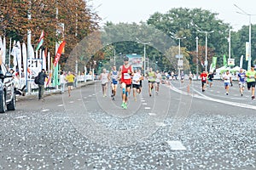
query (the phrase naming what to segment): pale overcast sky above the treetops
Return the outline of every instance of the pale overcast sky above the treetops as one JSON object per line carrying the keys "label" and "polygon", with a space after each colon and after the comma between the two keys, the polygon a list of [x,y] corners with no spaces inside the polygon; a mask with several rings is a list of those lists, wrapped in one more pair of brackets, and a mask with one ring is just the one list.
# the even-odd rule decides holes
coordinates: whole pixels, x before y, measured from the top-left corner
{"label": "pale overcast sky above the treetops", "polygon": [[140,22],[148,20],[154,12],[165,14],[171,8],[203,8],[212,13],[218,13],[218,19],[230,23],[238,30],[241,26],[249,25],[249,16],[237,14],[242,8],[252,15],[252,24],[256,24],[256,0],[90,0],[97,14],[102,17],[102,23],[112,21]]}

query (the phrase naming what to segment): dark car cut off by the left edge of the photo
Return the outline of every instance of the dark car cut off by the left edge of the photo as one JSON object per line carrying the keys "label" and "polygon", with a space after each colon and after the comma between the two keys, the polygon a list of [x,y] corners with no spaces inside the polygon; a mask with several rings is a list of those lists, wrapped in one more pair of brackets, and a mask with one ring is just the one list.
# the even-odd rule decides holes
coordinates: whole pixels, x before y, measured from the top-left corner
{"label": "dark car cut off by the left edge of the photo", "polygon": [[15,111],[15,80],[5,65],[0,65],[0,113]]}

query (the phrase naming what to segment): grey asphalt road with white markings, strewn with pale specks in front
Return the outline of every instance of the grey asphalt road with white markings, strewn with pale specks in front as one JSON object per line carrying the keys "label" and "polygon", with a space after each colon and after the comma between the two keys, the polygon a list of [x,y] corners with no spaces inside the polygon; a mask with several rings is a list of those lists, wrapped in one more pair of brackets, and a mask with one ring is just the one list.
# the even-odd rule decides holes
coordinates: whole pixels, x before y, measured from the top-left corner
{"label": "grey asphalt road with white markings, strewn with pale specks in front", "polygon": [[[128,109],[96,82],[0,115],[0,169],[255,169],[256,101],[235,82],[171,82]],[[154,91],[153,91],[154,93]],[[132,93],[131,93],[132,94]]]}

